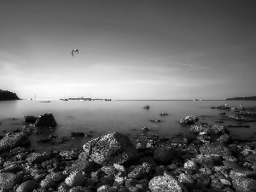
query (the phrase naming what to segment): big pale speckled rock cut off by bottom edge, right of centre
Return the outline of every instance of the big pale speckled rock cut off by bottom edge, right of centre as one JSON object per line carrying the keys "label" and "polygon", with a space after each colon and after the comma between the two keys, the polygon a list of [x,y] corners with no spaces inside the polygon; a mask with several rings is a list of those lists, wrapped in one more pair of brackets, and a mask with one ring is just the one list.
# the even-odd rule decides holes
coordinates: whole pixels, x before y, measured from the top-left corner
{"label": "big pale speckled rock cut off by bottom edge, right of centre", "polygon": [[148,188],[152,192],[186,192],[188,191],[182,183],[179,183],[174,177],[165,174],[164,176],[153,177]]}

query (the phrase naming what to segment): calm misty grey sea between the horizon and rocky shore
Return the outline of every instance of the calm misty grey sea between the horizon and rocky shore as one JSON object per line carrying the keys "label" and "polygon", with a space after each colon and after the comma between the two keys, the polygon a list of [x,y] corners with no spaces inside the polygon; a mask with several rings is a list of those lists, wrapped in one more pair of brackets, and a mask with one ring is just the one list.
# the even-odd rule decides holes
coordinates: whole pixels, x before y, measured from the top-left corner
{"label": "calm misty grey sea between the horizon and rocky shore", "polygon": [[[179,132],[189,133],[189,125],[180,125],[179,120],[188,115],[199,117],[199,122],[207,122],[216,125],[236,124],[232,119],[224,120],[223,124],[215,123],[221,119],[218,113],[225,112],[211,107],[227,104],[231,108],[253,107],[255,101],[59,101],[50,102],[40,100],[21,100],[11,102],[0,102],[0,135],[23,128],[22,118],[25,115],[39,116],[44,113],[53,113],[57,126],[54,130],[41,130],[42,134],[32,135],[32,148],[43,150],[45,148],[64,149],[80,147],[91,137],[72,138],[69,134],[73,131],[83,131],[92,137],[99,137],[113,131],[127,134],[134,139],[137,133],[146,126],[153,133],[162,137],[171,137]],[[143,109],[144,105],[150,108]],[[160,113],[169,115],[160,116]],[[227,113],[234,113],[230,111]],[[255,119],[255,117],[249,117]],[[149,120],[160,119],[160,123]],[[229,130],[241,137],[253,136],[256,131],[256,123],[243,123],[250,128],[229,128]],[[6,132],[3,132],[6,131]],[[147,133],[147,134],[148,134]],[[64,136],[70,139],[67,143],[38,144],[39,137]]]}

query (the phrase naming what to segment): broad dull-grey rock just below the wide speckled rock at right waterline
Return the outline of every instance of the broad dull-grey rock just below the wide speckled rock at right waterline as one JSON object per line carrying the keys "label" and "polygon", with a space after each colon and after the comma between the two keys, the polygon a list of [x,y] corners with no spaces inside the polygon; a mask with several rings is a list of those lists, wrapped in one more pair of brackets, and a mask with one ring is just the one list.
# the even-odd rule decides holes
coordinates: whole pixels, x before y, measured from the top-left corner
{"label": "broad dull-grey rock just below the wide speckled rock at right waterline", "polygon": [[224,143],[207,143],[199,148],[201,154],[217,154],[219,156],[230,156],[231,152]]}

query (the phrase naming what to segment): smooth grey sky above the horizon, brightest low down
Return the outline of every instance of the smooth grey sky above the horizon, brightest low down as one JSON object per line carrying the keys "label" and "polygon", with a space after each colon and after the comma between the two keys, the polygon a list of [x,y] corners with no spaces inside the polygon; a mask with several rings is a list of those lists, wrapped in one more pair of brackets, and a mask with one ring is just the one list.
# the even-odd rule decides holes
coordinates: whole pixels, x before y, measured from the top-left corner
{"label": "smooth grey sky above the horizon, brightest low down", "polygon": [[22,99],[256,96],[255,10],[254,0],[4,0],[0,89]]}

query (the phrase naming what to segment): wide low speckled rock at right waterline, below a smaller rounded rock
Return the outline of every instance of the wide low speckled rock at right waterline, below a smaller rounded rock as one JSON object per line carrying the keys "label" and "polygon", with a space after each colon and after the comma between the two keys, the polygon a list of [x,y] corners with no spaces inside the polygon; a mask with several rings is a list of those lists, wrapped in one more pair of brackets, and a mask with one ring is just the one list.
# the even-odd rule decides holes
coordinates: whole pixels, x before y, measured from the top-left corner
{"label": "wide low speckled rock at right waterline, below a smaller rounded rock", "polygon": [[229,131],[224,128],[224,126],[208,123],[195,123],[194,125],[191,125],[190,132],[195,134],[200,132],[205,132],[206,134],[229,133]]}

